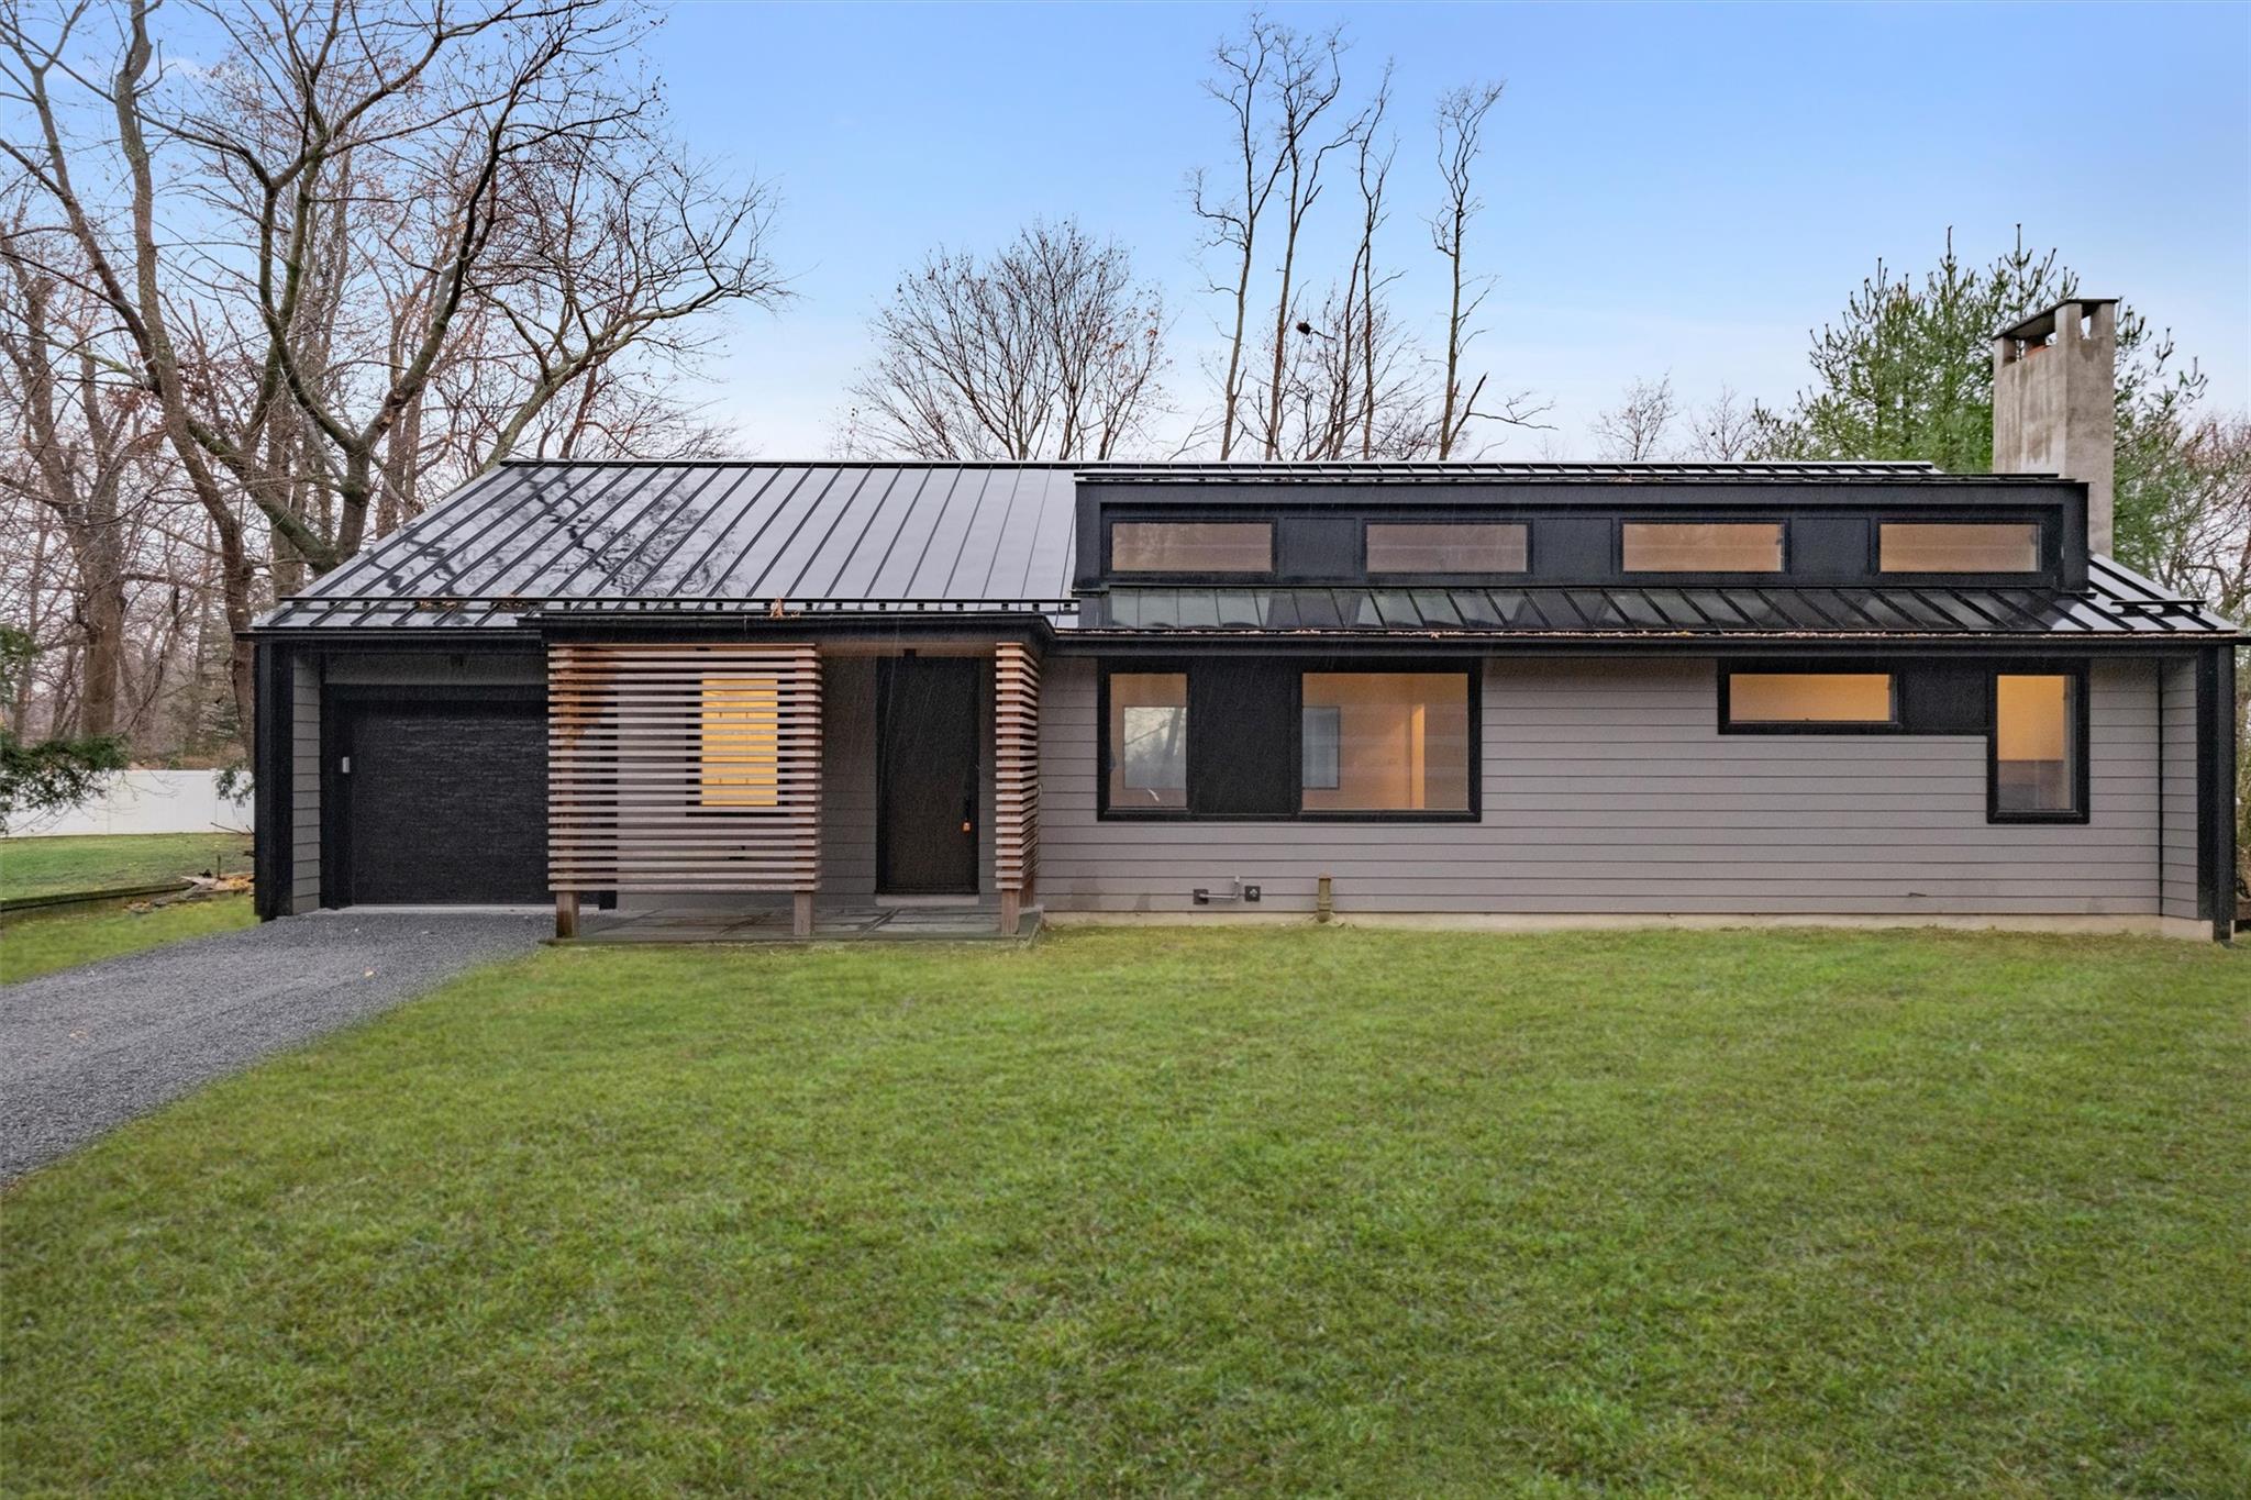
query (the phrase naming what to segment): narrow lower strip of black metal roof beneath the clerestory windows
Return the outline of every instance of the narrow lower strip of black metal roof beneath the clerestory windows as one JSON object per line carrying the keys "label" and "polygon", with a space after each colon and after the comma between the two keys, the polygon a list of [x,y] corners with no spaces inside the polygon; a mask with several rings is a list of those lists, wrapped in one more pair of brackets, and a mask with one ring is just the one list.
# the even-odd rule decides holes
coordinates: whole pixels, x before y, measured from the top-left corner
{"label": "narrow lower strip of black metal roof beneath the clerestory windows", "polygon": [[2235,625],[2109,558],[2087,594],[1997,587],[1803,589],[1776,585],[1445,589],[1110,589],[1080,630],[1425,636],[2165,636]]}

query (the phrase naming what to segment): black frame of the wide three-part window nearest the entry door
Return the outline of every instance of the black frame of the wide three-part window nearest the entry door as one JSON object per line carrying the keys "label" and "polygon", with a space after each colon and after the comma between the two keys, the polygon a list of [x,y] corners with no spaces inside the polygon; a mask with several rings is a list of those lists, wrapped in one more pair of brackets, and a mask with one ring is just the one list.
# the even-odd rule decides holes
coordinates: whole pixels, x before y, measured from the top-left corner
{"label": "black frame of the wide three-part window nearest the entry door", "polygon": [[[1195,668],[1222,657],[1103,657],[1096,672],[1094,715],[1094,816],[1103,823],[1477,823],[1486,805],[1483,762],[1483,663],[1461,657],[1256,657],[1256,663],[1290,672],[1290,787],[1294,812],[1207,812],[1198,805],[1195,776]],[[1110,677],[1112,672],[1186,672],[1189,675],[1189,805],[1186,807],[1112,807],[1110,805]],[[1470,715],[1470,805],[1468,810],[1380,810],[1380,812],[1308,812],[1306,810],[1306,672],[1447,672],[1463,677]]]}

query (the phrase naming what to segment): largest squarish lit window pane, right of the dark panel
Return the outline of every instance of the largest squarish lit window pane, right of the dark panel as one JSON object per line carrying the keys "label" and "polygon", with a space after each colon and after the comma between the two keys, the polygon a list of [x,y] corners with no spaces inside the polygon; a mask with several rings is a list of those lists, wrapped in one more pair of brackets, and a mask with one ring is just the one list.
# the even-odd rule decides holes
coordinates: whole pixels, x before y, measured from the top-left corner
{"label": "largest squarish lit window pane, right of the dark panel", "polygon": [[1468,812],[1465,672],[1306,672],[1303,812]]}

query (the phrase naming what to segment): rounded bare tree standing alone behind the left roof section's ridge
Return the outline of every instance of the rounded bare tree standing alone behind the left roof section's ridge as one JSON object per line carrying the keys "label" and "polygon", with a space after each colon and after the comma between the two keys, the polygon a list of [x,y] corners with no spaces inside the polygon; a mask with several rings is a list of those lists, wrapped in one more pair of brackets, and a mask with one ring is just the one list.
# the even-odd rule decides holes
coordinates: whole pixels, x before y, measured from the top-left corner
{"label": "rounded bare tree standing alone behind the left roof section's ridge", "polygon": [[1164,301],[1116,241],[1031,225],[990,261],[939,250],[876,313],[849,452],[1110,459],[1162,400]]}

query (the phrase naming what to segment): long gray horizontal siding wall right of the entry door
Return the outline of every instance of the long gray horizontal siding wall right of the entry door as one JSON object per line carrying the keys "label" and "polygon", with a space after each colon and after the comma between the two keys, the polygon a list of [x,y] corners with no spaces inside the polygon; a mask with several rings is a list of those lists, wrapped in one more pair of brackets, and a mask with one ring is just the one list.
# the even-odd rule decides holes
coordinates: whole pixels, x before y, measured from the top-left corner
{"label": "long gray horizontal siding wall right of the entry door", "polygon": [[2159,702],[2145,661],[2091,677],[2089,825],[1988,825],[1981,735],[1720,735],[1711,661],[1492,661],[1479,823],[1103,823],[1094,663],[1040,704],[1040,895],[1195,911],[2147,915]]}

